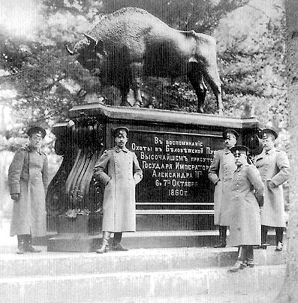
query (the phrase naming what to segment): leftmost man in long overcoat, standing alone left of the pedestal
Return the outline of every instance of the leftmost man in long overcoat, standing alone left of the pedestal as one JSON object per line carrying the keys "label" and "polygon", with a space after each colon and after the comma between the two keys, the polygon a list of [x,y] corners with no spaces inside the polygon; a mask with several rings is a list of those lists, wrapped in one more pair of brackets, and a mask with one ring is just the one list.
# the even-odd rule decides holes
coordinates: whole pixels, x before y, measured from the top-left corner
{"label": "leftmost man in long overcoat, standing alone left of the pedestal", "polygon": [[17,254],[40,252],[31,245],[32,236],[46,236],[45,192],[48,186],[48,160],[41,151],[46,131],[31,127],[29,144],[16,151],[8,169],[9,192],[13,202],[10,236],[17,235]]}

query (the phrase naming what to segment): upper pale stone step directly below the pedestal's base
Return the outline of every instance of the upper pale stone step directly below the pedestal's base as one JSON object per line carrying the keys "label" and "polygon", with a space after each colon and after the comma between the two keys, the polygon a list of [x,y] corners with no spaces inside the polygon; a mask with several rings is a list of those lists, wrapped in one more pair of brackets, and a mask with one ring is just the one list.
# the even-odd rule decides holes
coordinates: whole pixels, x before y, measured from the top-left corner
{"label": "upper pale stone step directly below the pedestal's base", "polygon": [[[285,263],[285,251],[276,252],[274,246],[254,250],[254,254],[258,265]],[[230,266],[236,257],[237,248],[231,247],[132,249],[104,254],[47,251],[0,254],[0,278],[191,270]]]}

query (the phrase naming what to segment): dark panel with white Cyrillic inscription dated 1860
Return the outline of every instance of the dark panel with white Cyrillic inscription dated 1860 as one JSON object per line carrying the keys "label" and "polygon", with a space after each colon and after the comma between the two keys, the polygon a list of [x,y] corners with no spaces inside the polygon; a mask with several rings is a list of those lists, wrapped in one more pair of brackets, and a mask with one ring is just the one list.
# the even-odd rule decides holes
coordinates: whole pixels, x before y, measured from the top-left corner
{"label": "dark panel with white Cyrillic inscription dated 1860", "polygon": [[143,169],[138,202],[212,202],[208,169],[220,136],[132,131],[131,148]]}

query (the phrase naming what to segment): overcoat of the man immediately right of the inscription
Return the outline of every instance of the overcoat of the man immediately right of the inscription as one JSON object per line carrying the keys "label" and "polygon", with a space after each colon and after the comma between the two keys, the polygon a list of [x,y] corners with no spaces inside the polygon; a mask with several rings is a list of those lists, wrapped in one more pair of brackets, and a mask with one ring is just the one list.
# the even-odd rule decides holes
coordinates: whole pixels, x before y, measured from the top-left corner
{"label": "overcoat of the man immediately right of the inscription", "polygon": [[214,153],[208,177],[215,185],[214,190],[214,224],[230,224],[230,182],[236,169],[235,159],[228,148]]}

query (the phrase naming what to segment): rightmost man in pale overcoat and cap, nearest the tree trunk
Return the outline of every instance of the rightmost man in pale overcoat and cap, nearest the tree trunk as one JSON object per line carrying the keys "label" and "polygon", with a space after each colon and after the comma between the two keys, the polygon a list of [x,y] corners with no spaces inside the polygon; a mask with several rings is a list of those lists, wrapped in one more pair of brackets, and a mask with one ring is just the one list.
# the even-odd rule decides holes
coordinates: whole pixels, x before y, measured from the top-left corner
{"label": "rightmost man in pale overcoat and cap, nearest the tree trunk", "polygon": [[268,228],[275,227],[276,250],[283,249],[283,229],[286,227],[283,183],[289,179],[290,164],[287,154],[274,147],[277,133],[264,128],[261,132],[263,150],[255,158],[255,165],[265,184],[264,207],[261,212],[262,248],[266,248]]}

